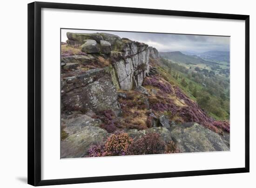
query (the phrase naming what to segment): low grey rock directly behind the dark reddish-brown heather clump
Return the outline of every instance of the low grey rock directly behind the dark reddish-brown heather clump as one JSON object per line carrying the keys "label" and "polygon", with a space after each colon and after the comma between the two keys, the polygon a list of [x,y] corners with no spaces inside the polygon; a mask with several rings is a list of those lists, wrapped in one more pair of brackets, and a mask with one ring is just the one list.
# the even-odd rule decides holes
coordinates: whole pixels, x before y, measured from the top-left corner
{"label": "low grey rock directly behind the dark reddish-brown heather clump", "polygon": [[171,132],[165,127],[152,127],[145,130],[138,131],[137,129],[130,129],[127,132],[131,138],[140,139],[148,133],[158,133],[165,142],[172,141]]}

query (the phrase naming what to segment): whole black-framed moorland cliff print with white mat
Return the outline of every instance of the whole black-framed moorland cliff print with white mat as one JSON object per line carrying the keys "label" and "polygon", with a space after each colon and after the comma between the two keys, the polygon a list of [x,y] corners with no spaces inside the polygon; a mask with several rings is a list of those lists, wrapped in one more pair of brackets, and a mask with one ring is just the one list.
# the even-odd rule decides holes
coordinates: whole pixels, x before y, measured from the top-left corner
{"label": "whole black-framed moorland cliff print with white mat", "polygon": [[28,184],[249,172],[249,15],[28,4]]}

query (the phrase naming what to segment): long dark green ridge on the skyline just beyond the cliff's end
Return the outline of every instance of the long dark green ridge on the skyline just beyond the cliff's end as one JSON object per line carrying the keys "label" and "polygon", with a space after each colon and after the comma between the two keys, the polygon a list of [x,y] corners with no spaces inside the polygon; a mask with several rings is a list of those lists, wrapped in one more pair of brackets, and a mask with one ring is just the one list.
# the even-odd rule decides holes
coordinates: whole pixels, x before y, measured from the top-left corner
{"label": "long dark green ridge on the skyline just beyond the cliff's end", "polygon": [[160,56],[167,58],[176,63],[185,63],[185,64],[216,64],[214,62],[203,60],[199,56],[190,56],[185,55],[180,51],[169,51],[169,52],[160,52]]}

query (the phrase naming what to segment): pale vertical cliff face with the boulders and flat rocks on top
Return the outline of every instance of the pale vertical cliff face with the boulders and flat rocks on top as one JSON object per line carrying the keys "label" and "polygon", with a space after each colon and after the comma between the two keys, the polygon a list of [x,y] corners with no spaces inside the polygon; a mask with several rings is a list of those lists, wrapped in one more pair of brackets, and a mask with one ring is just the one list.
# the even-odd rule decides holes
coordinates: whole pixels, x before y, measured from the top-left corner
{"label": "pale vertical cliff face with the boulders and flat rocks on top", "polygon": [[[70,43],[74,41],[75,44],[82,44],[83,52],[98,53],[101,50],[101,53],[111,53],[111,62],[115,69],[115,74],[111,72],[111,75],[112,77],[115,75],[115,80],[119,83],[118,85],[115,84],[115,87],[123,90],[130,90],[141,86],[143,79],[149,73],[148,61],[150,53],[151,55],[153,52],[155,54],[158,53],[156,49],[152,47],[149,48],[147,44],[131,41],[126,38],[121,39],[109,33],[88,34],[69,32],[67,33],[67,38]],[[86,42],[83,44],[81,41]],[[63,58],[64,63],[67,62],[66,59]],[[69,59],[71,59],[71,57],[69,57]]]}

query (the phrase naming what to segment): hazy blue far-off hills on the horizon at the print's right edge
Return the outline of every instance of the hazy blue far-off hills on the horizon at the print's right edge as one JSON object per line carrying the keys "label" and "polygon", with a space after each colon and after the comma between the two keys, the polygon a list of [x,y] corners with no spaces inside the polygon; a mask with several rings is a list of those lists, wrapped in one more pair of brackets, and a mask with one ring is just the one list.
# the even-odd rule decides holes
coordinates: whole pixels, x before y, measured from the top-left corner
{"label": "hazy blue far-off hills on the horizon at the print's right edge", "polygon": [[229,54],[230,54],[229,51],[213,50],[213,51],[206,51],[206,52],[197,54],[197,56],[200,56],[208,60],[225,61],[229,63]]}

